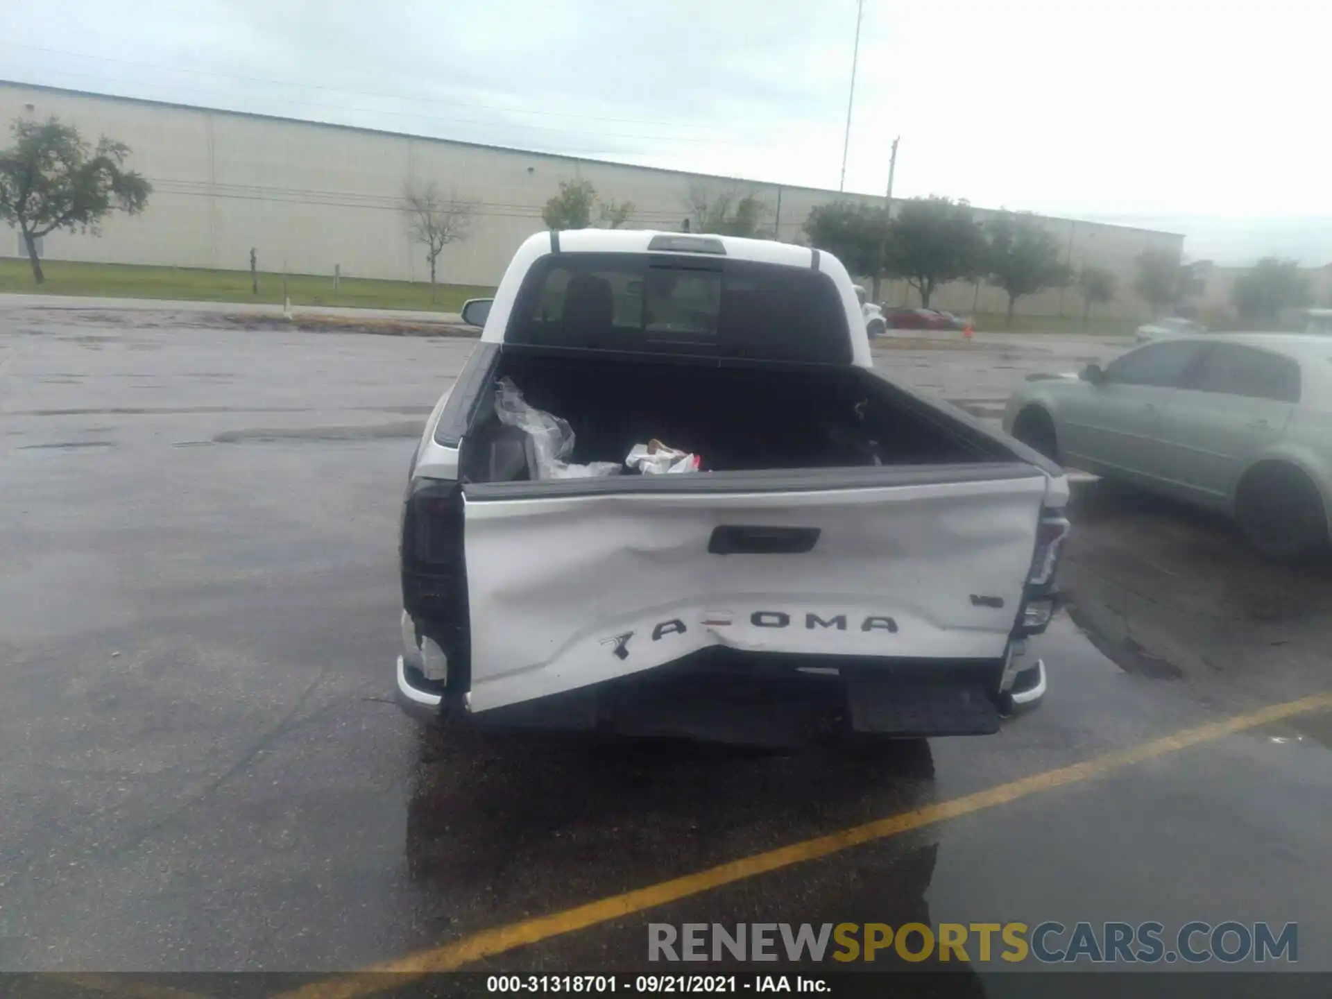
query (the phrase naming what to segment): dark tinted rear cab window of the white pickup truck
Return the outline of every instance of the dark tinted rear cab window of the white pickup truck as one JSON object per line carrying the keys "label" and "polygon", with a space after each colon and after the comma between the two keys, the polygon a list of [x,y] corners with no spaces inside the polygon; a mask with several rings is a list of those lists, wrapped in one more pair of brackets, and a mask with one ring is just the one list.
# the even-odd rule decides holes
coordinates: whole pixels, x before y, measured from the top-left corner
{"label": "dark tinted rear cab window of the white pickup truck", "polygon": [[562,253],[518,290],[505,344],[851,362],[836,285],[813,268],[671,253]]}

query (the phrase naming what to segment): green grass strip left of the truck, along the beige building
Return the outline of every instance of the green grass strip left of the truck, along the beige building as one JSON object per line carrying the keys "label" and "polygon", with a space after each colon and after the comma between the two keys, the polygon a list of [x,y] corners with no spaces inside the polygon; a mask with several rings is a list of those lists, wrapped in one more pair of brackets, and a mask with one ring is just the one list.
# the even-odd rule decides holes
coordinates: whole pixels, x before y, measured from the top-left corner
{"label": "green grass strip left of the truck, along the beige building", "polygon": [[[39,285],[32,280],[32,268],[27,260],[0,258],[0,292],[282,304],[282,276],[265,272],[258,276],[258,294],[253,294],[246,270],[76,264],[63,260],[47,260],[41,266],[47,280]],[[457,312],[468,298],[494,294],[494,288],[440,285],[436,289],[436,301],[432,304],[429,284],[344,277],[338,290],[334,292],[333,277],[321,274],[289,274],[286,289],[292,305],[426,312]]]}

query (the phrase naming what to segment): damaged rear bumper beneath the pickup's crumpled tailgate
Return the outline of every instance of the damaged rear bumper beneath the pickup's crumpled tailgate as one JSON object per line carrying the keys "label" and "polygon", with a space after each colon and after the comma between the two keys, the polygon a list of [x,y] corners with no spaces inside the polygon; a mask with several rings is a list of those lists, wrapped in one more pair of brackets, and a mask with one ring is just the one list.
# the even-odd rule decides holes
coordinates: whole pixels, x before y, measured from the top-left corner
{"label": "damaged rear bumper beneath the pickup's crumpled tailgate", "polygon": [[1023,658],[1022,645],[1007,662],[834,663],[718,649],[619,681],[472,713],[465,697],[446,697],[398,657],[396,701],[426,723],[799,746],[839,733],[986,735],[1000,718],[1039,705],[1047,690],[1044,662]]}

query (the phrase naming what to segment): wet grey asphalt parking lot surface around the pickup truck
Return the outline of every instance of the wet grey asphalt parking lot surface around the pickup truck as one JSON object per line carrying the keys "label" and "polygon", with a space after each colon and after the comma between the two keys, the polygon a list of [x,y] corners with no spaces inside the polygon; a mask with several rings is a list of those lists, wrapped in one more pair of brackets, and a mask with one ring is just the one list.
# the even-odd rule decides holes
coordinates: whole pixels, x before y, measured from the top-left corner
{"label": "wet grey asphalt parking lot surface around the pickup truck", "polygon": [[[1026,373],[1119,349],[1003,342],[878,364],[996,417]],[[1328,569],[1104,484],[1075,486],[1051,693],[999,735],[758,754],[417,730],[390,702],[398,503],[472,346],[0,305],[0,970],[337,983],[460,955],[642,968],[650,922],[1268,920],[1332,972],[1332,709],[1253,714],[1332,687]],[[970,994],[1015,994],[971,958]]]}

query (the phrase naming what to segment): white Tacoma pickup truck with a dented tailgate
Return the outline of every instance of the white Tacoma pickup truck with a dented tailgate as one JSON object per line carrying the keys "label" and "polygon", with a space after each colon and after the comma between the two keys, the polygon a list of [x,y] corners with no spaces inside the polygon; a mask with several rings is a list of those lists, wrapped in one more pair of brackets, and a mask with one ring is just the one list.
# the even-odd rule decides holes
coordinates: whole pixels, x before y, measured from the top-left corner
{"label": "white Tacoma pickup truck with a dented tailgate", "polygon": [[[835,257],[542,233],[464,318],[402,518],[410,714],[786,743],[994,733],[1044,695],[1067,480],[875,370]],[[697,470],[626,466],[651,440]]]}

